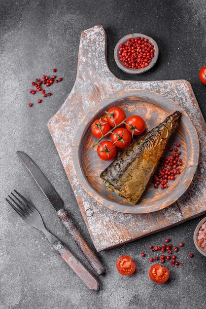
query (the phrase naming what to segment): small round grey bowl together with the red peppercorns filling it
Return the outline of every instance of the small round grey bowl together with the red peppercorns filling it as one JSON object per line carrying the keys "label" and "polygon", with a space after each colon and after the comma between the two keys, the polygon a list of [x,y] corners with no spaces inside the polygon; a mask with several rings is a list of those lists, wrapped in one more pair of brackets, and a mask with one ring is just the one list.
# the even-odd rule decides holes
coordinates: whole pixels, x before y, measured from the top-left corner
{"label": "small round grey bowl together with the red peppercorns filling it", "polygon": [[141,74],[150,70],[159,55],[154,39],[140,33],[133,33],[120,39],[114,48],[117,66],[129,74]]}

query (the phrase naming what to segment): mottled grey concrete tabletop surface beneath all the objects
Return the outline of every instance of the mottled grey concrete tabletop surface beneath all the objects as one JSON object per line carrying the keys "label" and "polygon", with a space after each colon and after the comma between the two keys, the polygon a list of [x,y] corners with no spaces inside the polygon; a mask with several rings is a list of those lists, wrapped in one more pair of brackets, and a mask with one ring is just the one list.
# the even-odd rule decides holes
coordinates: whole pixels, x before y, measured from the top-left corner
{"label": "mottled grey concrete tabletop surface beneath all the objects", "polygon": [[[103,25],[108,65],[118,78],[187,79],[206,119],[206,87],[198,77],[206,64],[205,16],[206,2],[199,0],[0,0],[0,309],[205,308],[206,259],[193,244],[194,229],[204,216],[98,253],[107,273],[99,277],[100,290],[94,292],[51,250],[43,234],[24,223],[5,201],[13,189],[32,200],[49,231],[91,270],[16,151],[30,154],[41,166],[93,246],[47,129],[48,120],[75,82],[81,31]],[[160,48],[156,66],[141,76],[121,72],[113,58],[116,42],[133,32],[153,37]],[[52,68],[57,68],[63,81],[52,85],[52,96],[38,104],[29,93],[31,82],[43,74],[51,76]],[[32,108],[29,102],[34,103]],[[167,237],[172,244],[185,244],[177,253],[185,265],[172,268],[168,263],[170,280],[158,285],[148,277],[148,258],[153,255],[148,246],[161,245]],[[140,256],[142,252],[145,258]],[[189,258],[191,252],[193,259]],[[137,265],[129,277],[115,268],[123,254]]]}

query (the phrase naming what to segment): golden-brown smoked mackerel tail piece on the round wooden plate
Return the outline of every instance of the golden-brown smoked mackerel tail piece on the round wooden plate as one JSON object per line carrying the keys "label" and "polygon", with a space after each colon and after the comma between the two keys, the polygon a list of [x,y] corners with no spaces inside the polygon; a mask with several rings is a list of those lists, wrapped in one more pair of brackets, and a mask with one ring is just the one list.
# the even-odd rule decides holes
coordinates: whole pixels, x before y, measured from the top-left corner
{"label": "golden-brown smoked mackerel tail piece on the round wooden plate", "polygon": [[176,111],[124,150],[100,177],[109,190],[132,204],[144,192],[181,113]]}

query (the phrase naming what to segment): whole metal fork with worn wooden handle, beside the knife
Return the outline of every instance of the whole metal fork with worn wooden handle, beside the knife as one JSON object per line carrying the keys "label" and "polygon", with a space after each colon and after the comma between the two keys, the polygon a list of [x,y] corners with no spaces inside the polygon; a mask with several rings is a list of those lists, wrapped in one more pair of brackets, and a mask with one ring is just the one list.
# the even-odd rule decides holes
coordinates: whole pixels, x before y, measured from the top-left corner
{"label": "whole metal fork with worn wooden handle, beside the knife", "polygon": [[[80,261],[78,261],[69,250],[62,244],[62,242],[51,234],[45,227],[42,218],[38,210],[30,203],[23,195],[16,190],[8,195],[6,201],[9,205],[20,215],[22,219],[32,227],[40,230],[48,238],[51,245],[57,250],[64,261],[70,266],[70,268],[82,279],[82,281],[91,290],[99,290],[99,283],[97,279],[87,270]],[[20,199],[21,198],[21,199]],[[13,203],[12,203],[12,202]]]}

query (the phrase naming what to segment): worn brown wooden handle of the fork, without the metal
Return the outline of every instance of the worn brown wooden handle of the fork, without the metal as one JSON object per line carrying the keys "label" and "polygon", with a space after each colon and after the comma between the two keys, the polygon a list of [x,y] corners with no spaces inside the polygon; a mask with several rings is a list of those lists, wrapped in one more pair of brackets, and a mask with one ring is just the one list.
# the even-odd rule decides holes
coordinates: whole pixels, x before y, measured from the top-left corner
{"label": "worn brown wooden handle of the fork, without the metal", "polygon": [[71,254],[61,241],[56,241],[53,247],[88,288],[94,291],[99,290],[99,282],[97,279]]}

